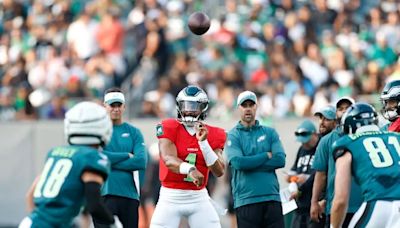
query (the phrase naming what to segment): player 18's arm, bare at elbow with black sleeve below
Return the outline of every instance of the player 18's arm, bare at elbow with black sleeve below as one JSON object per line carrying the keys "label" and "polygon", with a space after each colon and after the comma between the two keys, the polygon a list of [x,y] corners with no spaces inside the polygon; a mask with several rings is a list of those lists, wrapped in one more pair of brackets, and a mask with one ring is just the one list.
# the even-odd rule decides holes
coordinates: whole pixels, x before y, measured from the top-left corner
{"label": "player 18's arm, bare at elbow with black sleeve below", "polygon": [[85,171],[81,179],[85,184],[86,208],[89,213],[104,224],[113,224],[113,214],[104,205],[100,194],[104,178],[98,173]]}

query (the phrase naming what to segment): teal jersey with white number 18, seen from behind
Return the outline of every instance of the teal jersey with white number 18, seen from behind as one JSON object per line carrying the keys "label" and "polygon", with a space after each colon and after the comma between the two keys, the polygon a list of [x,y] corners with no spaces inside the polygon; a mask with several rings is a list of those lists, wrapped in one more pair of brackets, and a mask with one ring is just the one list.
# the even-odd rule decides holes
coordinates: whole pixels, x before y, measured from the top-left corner
{"label": "teal jersey with white number 18, seen from behind", "polygon": [[71,227],[84,204],[81,176],[85,171],[106,179],[110,163],[105,155],[86,146],[56,147],[48,153],[33,194],[33,228]]}

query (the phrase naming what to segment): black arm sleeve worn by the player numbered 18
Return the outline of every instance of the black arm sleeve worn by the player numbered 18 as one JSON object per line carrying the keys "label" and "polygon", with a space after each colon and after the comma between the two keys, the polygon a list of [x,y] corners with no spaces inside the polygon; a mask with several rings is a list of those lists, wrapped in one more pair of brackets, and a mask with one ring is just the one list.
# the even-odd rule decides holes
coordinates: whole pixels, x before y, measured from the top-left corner
{"label": "black arm sleeve worn by the player numbered 18", "polygon": [[94,218],[111,225],[114,223],[114,216],[101,199],[100,187],[97,182],[85,183],[86,208]]}

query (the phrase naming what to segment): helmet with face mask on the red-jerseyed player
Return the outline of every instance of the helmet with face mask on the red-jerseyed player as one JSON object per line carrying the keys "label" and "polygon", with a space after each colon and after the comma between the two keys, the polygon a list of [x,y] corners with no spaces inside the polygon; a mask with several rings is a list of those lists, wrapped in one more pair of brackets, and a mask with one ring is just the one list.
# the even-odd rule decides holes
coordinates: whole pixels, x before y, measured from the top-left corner
{"label": "helmet with face mask on the red-jerseyed player", "polygon": [[206,118],[208,103],[204,90],[193,85],[185,87],[176,97],[178,119],[187,126],[194,126],[195,122]]}

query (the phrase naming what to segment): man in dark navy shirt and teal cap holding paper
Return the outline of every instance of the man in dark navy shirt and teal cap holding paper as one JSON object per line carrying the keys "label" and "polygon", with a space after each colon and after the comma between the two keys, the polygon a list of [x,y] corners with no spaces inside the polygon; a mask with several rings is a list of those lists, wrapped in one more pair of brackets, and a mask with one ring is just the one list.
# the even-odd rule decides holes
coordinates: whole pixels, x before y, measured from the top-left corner
{"label": "man in dark navy shirt and teal cap holding paper", "polygon": [[303,121],[295,131],[296,140],[301,143],[297,151],[296,160],[290,169],[287,182],[294,182],[298,190],[292,192],[292,198],[296,199],[297,210],[294,213],[291,228],[307,228],[311,223],[310,206],[312,186],[315,170],[312,169],[315,150],[319,142],[317,129],[310,120]]}

